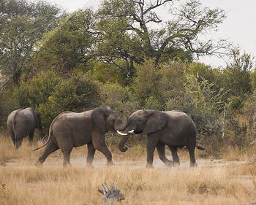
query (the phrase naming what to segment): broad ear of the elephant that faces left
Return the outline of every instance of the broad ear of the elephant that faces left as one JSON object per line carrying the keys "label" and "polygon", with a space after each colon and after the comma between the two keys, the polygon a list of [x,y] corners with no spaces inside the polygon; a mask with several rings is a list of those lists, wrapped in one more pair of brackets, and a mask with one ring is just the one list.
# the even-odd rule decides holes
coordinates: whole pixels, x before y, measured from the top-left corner
{"label": "broad ear of the elephant that faces left", "polygon": [[153,110],[149,113],[148,120],[146,121],[143,129],[143,134],[150,134],[159,131],[165,127],[167,118],[165,113]]}

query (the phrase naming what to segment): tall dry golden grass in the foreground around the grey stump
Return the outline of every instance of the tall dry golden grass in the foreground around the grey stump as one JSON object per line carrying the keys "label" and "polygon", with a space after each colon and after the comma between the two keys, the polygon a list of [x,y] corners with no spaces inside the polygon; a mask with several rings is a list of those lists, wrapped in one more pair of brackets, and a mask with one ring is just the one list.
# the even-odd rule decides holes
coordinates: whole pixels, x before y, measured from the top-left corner
{"label": "tall dry golden grass in the foreground around the grey stump", "polygon": [[[115,182],[125,196],[121,204],[252,204],[255,187],[246,175],[228,167],[129,169],[114,167],[1,167],[1,204],[102,204],[101,183]],[[249,174],[248,168],[241,167]],[[255,172],[253,174],[256,174]],[[248,175],[249,176],[249,175]]]}

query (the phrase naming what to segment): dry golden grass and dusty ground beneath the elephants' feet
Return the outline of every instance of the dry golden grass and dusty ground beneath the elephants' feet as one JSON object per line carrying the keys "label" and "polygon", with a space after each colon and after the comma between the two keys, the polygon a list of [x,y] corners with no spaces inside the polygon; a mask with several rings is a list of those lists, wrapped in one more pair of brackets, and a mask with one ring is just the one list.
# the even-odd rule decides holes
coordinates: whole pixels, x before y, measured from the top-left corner
{"label": "dry golden grass and dusty ground beneath the elephants' feet", "polygon": [[[1,205],[90,205],[102,204],[97,191],[102,182],[112,182],[124,193],[119,204],[253,204],[256,201],[256,165],[253,158],[229,149],[224,158],[200,158],[189,168],[186,150],[178,155],[181,166],[167,168],[154,158],[155,169],[145,169],[145,144],[118,151],[113,139],[107,139],[115,166],[105,166],[105,157],[96,152],[94,168],[86,167],[86,146],[72,150],[72,167],[62,168],[60,151],[49,155],[42,167],[34,162],[43,149],[32,151],[28,139],[14,150],[7,134],[0,134]],[[42,143],[42,142],[41,142]],[[231,161],[236,155],[236,161]],[[167,152],[167,158],[171,158]]]}

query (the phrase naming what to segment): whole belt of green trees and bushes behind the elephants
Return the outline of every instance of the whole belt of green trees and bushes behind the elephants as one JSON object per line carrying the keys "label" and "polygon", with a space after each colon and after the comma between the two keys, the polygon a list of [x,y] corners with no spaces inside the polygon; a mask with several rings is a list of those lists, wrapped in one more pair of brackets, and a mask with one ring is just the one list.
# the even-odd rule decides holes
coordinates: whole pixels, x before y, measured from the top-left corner
{"label": "whole belt of green trees and bushes behind the elephants", "polygon": [[[1,127],[20,107],[37,109],[45,127],[65,110],[181,109],[195,121],[201,144],[248,147],[254,58],[225,39],[200,39],[225,12],[197,0],[152,2],[105,0],[96,11],[67,14],[46,1],[1,1]],[[213,68],[197,62],[201,55],[230,61]]]}

